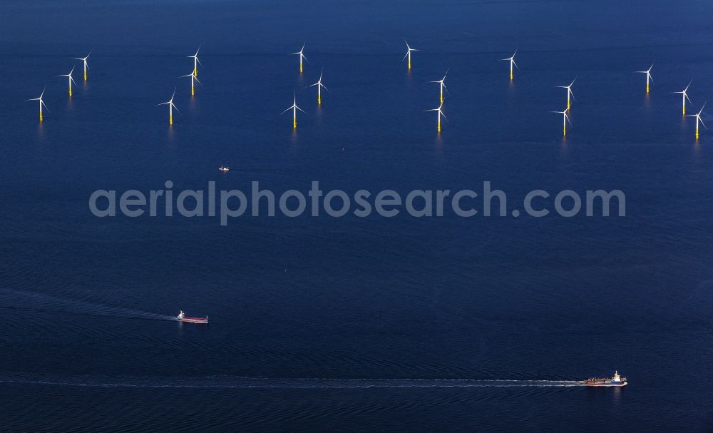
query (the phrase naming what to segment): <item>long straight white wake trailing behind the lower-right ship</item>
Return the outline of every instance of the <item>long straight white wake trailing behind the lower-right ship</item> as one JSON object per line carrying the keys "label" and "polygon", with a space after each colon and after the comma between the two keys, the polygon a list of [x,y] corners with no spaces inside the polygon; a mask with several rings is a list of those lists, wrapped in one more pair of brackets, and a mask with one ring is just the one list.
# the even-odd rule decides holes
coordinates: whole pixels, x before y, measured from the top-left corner
{"label": "long straight white wake trailing behind the lower-right ship", "polygon": [[510,379],[337,379],[270,377],[0,377],[0,382],[76,387],[131,388],[493,388],[493,387],[582,387],[576,380]]}

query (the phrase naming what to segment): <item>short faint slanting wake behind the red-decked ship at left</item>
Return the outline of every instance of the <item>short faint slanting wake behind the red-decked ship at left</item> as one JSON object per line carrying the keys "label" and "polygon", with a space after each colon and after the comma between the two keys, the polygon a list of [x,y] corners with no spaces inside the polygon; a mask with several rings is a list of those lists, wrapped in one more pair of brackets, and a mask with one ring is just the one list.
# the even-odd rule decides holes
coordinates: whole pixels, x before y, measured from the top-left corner
{"label": "short faint slanting wake behind the red-decked ship at left", "polygon": [[131,308],[111,307],[98,302],[72,300],[55,297],[40,292],[0,288],[1,306],[19,307],[31,310],[62,311],[78,315],[100,315],[111,317],[140,318],[147,320],[175,320],[175,317]]}

